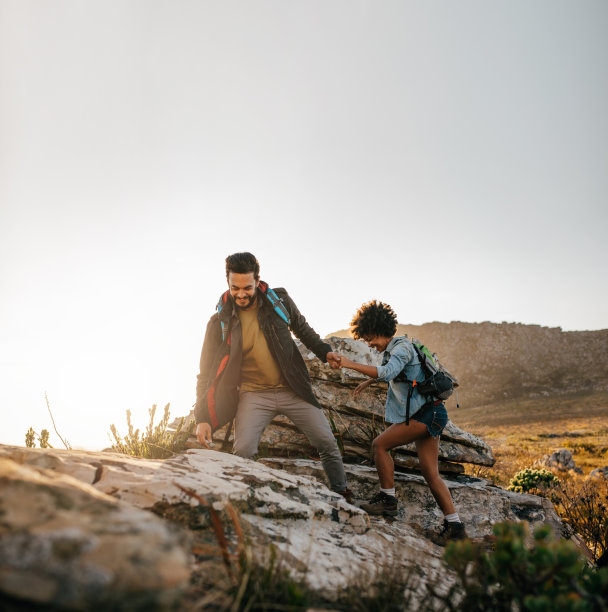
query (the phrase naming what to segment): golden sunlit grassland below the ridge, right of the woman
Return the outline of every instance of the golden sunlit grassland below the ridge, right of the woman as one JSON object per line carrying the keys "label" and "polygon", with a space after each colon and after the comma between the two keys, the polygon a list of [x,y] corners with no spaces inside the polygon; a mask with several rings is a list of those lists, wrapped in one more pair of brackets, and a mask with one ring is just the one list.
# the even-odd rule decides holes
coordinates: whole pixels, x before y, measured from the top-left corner
{"label": "golden sunlit grassland below the ridge, right of the woman", "polygon": [[475,466],[466,466],[466,473],[501,486],[509,486],[522,471],[539,471],[533,466],[543,456],[569,448],[583,475],[558,472],[557,487],[539,483],[533,488],[530,481],[522,489],[548,497],[597,560],[608,548],[608,482],[586,475],[607,464],[607,414],[607,394],[594,393],[465,409],[451,416],[460,427],[483,437],[496,458],[483,473]]}

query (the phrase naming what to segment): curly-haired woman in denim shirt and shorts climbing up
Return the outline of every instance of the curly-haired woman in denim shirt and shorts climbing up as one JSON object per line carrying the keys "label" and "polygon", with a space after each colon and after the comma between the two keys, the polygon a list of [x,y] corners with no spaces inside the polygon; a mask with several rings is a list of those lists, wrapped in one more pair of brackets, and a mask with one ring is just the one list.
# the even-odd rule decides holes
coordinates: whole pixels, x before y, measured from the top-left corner
{"label": "curly-haired woman in denim shirt and shorts climbing up", "polygon": [[380,491],[369,503],[361,507],[369,514],[397,515],[395,466],[389,451],[397,446],[415,442],[422,475],[444,514],[443,531],[434,540],[445,544],[448,540],[466,538],[464,525],[456,512],[450,491],[439,476],[439,436],[448,421],[445,406],[420,395],[414,386],[410,398],[411,420],[406,424],[409,384],[396,381],[395,378],[404,371],[407,380],[424,380],[424,372],[412,343],[405,337],[395,336],[397,317],[393,309],[376,300],[359,308],[351,321],[350,329],[355,339],[364,340],[368,346],[383,353],[382,365],[378,367],[340,356],[340,367],[370,377],[355,389],[355,397],[375,380],[389,383],[384,420],[390,423],[390,426],[375,438],[372,444]]}

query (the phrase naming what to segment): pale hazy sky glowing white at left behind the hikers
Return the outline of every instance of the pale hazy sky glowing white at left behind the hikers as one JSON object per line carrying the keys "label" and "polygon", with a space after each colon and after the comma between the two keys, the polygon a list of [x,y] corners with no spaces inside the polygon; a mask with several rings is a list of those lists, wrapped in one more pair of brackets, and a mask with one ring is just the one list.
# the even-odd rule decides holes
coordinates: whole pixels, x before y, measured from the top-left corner
{"label": "pale hazy sky glowing white at left behind the hikers", "polygon": [[195,400],[224,259],[322,335],[608,327],[604,0],[0,0],[0,443]]}

